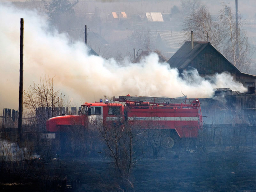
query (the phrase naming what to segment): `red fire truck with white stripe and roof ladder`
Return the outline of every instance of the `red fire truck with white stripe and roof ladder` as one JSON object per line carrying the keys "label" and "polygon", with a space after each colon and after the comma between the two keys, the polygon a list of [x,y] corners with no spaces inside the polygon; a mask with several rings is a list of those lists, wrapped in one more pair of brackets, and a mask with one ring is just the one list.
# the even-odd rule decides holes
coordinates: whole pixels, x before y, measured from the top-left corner
{"label": "red fire truck with white stripe and roof ladder", "polygon": [[[170,130],[170,139],[197,138],[202,114],[198,99],[119,96],[114,97],[113,102],[84,103],[79,115],[48,119],[45,137],[55,138],[55,133],[64,131],[67,125],[82,125],[86,129],[95,121],[101,126],[126,122],[139,125],[140,129]],[[174,142],[171,147],[173,145]]]}

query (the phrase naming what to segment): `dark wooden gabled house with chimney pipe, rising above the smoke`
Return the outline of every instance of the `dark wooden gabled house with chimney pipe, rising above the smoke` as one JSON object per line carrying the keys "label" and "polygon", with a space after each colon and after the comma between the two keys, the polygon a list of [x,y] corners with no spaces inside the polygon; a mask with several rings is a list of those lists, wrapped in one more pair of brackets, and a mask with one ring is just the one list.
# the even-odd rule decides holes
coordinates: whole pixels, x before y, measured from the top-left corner
{"label": "dark wooden gabled house with chimney pipe, rising above the smoke", "polygon": [[256,76],[242,73],[226,59],[210,42],[186,41],[181,48],[168,60],[170,67],[177,68],[180,73],[193,67],[202,77],[213,76],[216,73],[229,72],[234,80],[245,87],[256,84]]}

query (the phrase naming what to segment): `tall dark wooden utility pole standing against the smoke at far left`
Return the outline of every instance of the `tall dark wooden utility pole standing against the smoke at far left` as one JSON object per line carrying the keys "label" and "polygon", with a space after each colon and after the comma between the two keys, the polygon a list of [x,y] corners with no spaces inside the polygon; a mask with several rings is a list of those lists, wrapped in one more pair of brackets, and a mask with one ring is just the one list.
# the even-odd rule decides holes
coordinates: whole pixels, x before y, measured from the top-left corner
{"label": "tall dark wooden utility pole standing against the smoke at far left", "polygon": [[20,91],[19,91],[19,119],[18,119],[18,134],[19,145],[22,142],[22,115],[23,115],[23,32],[24,20],[20,19]]}

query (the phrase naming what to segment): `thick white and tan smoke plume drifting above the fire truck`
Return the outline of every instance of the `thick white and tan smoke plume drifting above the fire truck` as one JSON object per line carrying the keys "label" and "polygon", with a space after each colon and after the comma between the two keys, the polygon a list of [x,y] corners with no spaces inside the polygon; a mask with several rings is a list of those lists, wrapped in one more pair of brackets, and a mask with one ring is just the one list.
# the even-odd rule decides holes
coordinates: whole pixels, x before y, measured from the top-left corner
{"label": "thick white and tan smoke plume drifting above the fire truck", "polygon": [[179,97],[182,91],[188,98],[205,98],[217,87],[245,89],[228,74],[216,75],[214,83],[196,71],[181,79],[176,69],[159,63],[156,54],[136,64],[89,56],[83,42],[70,46],[65,34],[49,32],[45,18],[33,11],[0,4],[0,17],[0,108],[18,108],[20,18],[24,18],[24,90],[44,75],[55,76],[56,88],[80,105],[103,95]]}

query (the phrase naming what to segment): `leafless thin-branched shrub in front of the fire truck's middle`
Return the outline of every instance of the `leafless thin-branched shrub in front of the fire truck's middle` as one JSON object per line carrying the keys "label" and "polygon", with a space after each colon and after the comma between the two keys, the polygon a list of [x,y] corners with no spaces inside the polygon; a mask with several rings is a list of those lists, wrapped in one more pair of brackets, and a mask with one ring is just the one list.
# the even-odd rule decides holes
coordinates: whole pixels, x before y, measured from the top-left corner
{"label": "leafless thin-branched shrub in front of the fire truck's middle", "polygon": [[134,145],[138,142],[140,129],[121,121],[112,125],[98,127],[106,145],[109,155],[113,159],[115,167],[116,191],[132,191],[133,183],[131,172],[135,164],[141,158],[141,153],[134,151]]}

